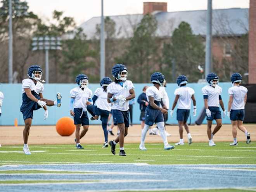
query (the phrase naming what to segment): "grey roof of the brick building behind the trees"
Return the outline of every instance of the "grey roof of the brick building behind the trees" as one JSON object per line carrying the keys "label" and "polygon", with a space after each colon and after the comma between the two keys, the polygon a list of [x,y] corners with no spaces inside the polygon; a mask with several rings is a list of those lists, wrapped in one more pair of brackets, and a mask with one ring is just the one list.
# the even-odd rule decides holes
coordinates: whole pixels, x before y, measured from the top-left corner
{"label": "grey roof of the brick building behind the trees", "polygon": [[[249,9],[231,8],[213,10],[213,35],[242,35],[249,29]],[[157,36],[171,36],[180,22],[188,22],[195,35],[206,35],[206,10],[155,12],[157,19]],[[133,36],[133,30],[143,18],[143,14],[109,16],[116,22],[116,38]],[[81,24],[88,39],[96,37],[96,25],[100,17],[92,17]],[[96,37],[97,38],[97,37]]]}

